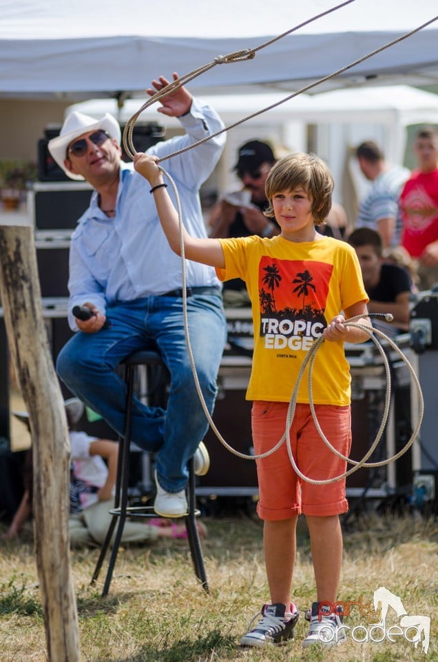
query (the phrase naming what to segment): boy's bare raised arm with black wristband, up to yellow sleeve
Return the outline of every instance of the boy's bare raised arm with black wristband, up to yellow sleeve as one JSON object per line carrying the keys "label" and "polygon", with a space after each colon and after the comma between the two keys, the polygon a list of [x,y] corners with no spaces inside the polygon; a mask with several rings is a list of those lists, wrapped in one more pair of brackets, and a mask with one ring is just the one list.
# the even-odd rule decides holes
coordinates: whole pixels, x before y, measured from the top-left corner
{"label": "boy's bare raised arm with black wristband, up to yellow sleeve", "polygon": [[[178,255],[180,250],[180,229],[178,223],[178,212],[167,193],[163,172],[158,168],[156,161],[158,157],[138,152],[134,156],[134,168],[151,185],[152,195],[154,196],[158,217],[163,227],[170,248]],[[204,239],[201,237],[191,237],[183,228],[184,252],[188,260],[209,264],[212,267],[225,268],[225,258],[222,246],[218,239]]]}

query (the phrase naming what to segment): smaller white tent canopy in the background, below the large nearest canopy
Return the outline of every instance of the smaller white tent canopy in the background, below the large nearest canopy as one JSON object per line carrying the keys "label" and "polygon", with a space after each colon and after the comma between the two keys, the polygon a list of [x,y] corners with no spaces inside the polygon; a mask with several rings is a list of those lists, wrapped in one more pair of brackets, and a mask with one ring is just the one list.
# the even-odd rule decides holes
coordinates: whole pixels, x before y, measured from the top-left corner
{"label": "smaller white tent canopy in the background, below the large nearest canopy", "polygon": [[[285,97],[287,97],[285,92],[272,92],[200,95],[198,98],[213,106],[225,124],[231,126],[251,114],[279,103]],[[70,106],[66,114],[72,110],[79,110],[92,117],[101,117],[105,112],[110,112],[125,123],[138,111],[144,101],[145,99],[140,98],[128,99],[122,108],[118,108],[116,99],[90,99]],[[138,121],[158,121],[165,127],[177,124],[174,118],[158,115],[156,106],[149,106],[143,111]],[[293,142],[287,140],[288,134],[291,134],[289,128],[295,123],[302,124],[301,130],[304,130],[306,124],[331,126],[327,134],[328,144],[325,153],[320,146],[321,155],[329,163],[336,178],[340,180],[345,168],[347,146],[352,147],[365,139],[377,139],[390,163],[402,163],[406,148],[406,127],[411,124],[438,124],[438,95],[409,86],[395,85],[331,90],[312,97],[301,94],[289,99],[267,112],[257,114],[228,133],[223,174],[225,188],[229,188],[230,173],[239,143],[254,137],[279,139],[281,136],[286,143],[285,146],[296,148],[298,136],[296,132],[291,138]]]}

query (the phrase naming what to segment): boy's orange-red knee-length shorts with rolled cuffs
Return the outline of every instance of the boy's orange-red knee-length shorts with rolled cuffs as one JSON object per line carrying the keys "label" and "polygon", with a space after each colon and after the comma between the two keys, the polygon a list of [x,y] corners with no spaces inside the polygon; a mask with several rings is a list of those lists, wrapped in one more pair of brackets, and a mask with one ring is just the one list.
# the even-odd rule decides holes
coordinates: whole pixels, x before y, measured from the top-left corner
{"label": "boy's orange-red knee-length shorts with rolled cuffs", "polygon": [[[255,454],[267,452],[278,443],[286,429],[287,402],[253,403],[251,420]],[[349,405],[315,405],[320,427],[330,443],[345,457],[351,449],[351,408]],[[310,406],[297,404],[291,432],[293,457],[300,471],[314,480],[326,480],[346,471],[347,463],[331,451],[313,422]],[[348,510],[345,478],[327,485],[312,485],[295,473],[286,441],[268,457],[256,460],[260,519],[288,519],[305,515],[329,516]]]}

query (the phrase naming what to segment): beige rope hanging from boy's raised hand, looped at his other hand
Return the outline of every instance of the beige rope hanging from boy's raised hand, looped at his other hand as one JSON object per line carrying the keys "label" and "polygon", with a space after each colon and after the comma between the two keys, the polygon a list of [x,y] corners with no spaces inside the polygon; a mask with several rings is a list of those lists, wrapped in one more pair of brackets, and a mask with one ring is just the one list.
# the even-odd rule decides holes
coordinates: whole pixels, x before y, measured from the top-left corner
{"label": "beige rope hanging from boy's raised hand, looped at his other hand", "polygon": [[[333,447],[333,445],[328,441],[326,436],[324,435],[324,432],[322,431],[322,428],[320,426],[319,421],[317,420],[316,412],[315,412],[315,407],[313,404],[313,390],[312,390],[312,374],[313,374],[313,363],[315,361],[316,357],[316,352],[317,350],[320,349],[322,346],[322,343],[324,343],[324,337],[320,337],[315,341],[309,350],[309,352],[306,354],[306,357],[304,358],[304,361],[302,362],[300,371],[298,373],[297,381],[295,383],[295,388],[293,389],[293,393],[291,396],[291,401],[289,403],[289,408],[287,411],[286,415],[286,429],[284,431],[284,434],[282,435],[281,439],[267,452],[264,452],[259,455],[247,455],[244,453],[239,452],[235,448],[233,448],[225,439],[222,437],[222,434],[220,434],[218,428],[216,427],[216,424],[214,423],[213,419],[211,418],[211,414],[207,408],[207,404],[205,403],[204,396],[202,394],[202,389],[199,383],[198,379],[198,373],[196,372],[196,364],[194,360],[194,355],[193,351],[191,349],[191,343],[190,343],[190,333],[189,333],[189,321],[187,317],[187,272],[185,268],[185,247],[184,247],[184,225],[183,225],[183,213],[181,209],[181,203],[180,203],[180,197],[178,194],[178,189],[176,188],[176,183],[174,182],[174,179],[170,176],[166,170],[160,166],[160,170],[165,174],[167,179],[169,179],[171,186],[174,190],[175,194],[175,199],[176,199],[176,210],[178,212],[178,228],[179,228],[179,234],[180,234],[180,253],[181,253],[181,265],[182,265],[182,288],[183,288],[183,322],[184,322],[184,331],[185,331],[185,340],[187,344],[187,353],[189,355],[189,361],[190,361],[190,366],[191,366],[191,372],[193,372],[194,376],[194,381],[196,385],[196,391],[198,392],[198,397],[200,399],[200,403],[202,405],[202,409],[204,410],[205,416],[207,417],[207,421],[209,421],[209,424],[211,426],[211,429],[213,432],[216,434],[216,437],[218,437],[220,443],[229,450],[229,452],[233,453],[233,455],[236,455],[237,457],[240,457],[244,460],[258,460],[262,459],[264,457],[268,457],[269,455],[273,454],[284,441],[286,441],[286,448],[287,452],[289,454],[289,459],[291,461],[291,465],[293,466],[293,469],[295,472],[298,474],[298,476],[303,480],[306,481],[306,483],[311,483],[312,485],[328,485],[329,483],[335,483],[336,481],[340,481],[347,476],[353,474],[353,472],[357,471],[358,469],[365,467],[365,468],[372,468],[372,467],[383,467],[384,465],[387,465],[391,462],[395,462],[399,457],[404,455],[406,451],[410,448],[411,445],[413,445],[415,439],[417,438],[417,434],[419,433],[419,429],[421,427],[421,421],[423,419],[423,413],[424,413],[424,399],[423,399],[423,394],[421,392],[421,386],[419,384],[417,375],[415,374],[415,370],[413,366],[409,363],[408,359],[406,356],[401,352],[399,347],[386,335],[384,334],[383,331],[380,331],[378,329],[370,329],[364,324],[360,324],[357,322],[358,319],[363,319],[363,317],[366,317],[366,315],[359,315],[357,317],[352,317],[351,319],[347,319],[344,321],[344,324],[346,326],[352,326],[353,328],[358,328],[362,329],[364,332],[368,334],[368,336],[371,338],[371,340],[375,343],[377,350],[379,350],[379,353],[382,356],[384,367],[385,367],[385,372],[386,372],[386,397],[385,397],[385,407],[384,407],[384,414],[382,417],[382,423],[380,424],[379,430],[377,432],[377,435],[375,437],[375,440],[371,444],[371,447],[368,449],[368,452],[364,455],[362,460],[356,461],[352,460],[340,453],[336,448]],[[370,313],[368,317],[385,317],[387,321],[391,321],[393,318],[392,315],[388,314],[382,314],[382,313]],[[417,423],[415,424],[415,428],[413,430],[413,433],[411,434],[410,438],[408,439],[407,443],[404,445],[399,452],[397,452],[395,455],[392,457],[387,458],[386,460],[382,460],[380,462],[367,462],[368,458],[371,457],[375,449],[377,448],[377,445],[382,437],[382,434],[384,432],[384,428],[386,425],[386,421],[388,420],[388,414],[390,410],[390,383],[391,383],[391,376],[390,376],[390,366],[388,363],[388,357],[386,356],[386,353],[384,351],[384,348],[382,347],[381,343],[379,343],[377,337],[380,337],[384,341],[386,341],[390,347],[399,354],[401,357],[401,360],[406,364],[410,375],[413,379],[413,383],[415,384],[415,388],[417,389],[417,394],[418,394],[418,400],[419,400],[419,414],[417,417]],[[311,414],[313,421],[315,422],[315,426],[317,429],[318,434],[320,435],[321,439],[324,441],[326,446],[330,448],[337,457],[340,459],[348,462],[349,464],[352,464],[353,467],[346,472],[340,474],[339,476],[332,477],[330,479],[326,479],[324,481],[320,480],[315,480],[311,479],[309,476],[306,476],[305,474],[302,473],[302,471],[298,468],[298,465],[295,461],[295,458],[293,457],[293,452],[291,448],[291,437],[290,437],[290,430],[291,430],[291,425],[293,421],[293,416],[295,414],[295,407],[297,404],[297,397],[298,397],[298,390],[300,388],[300,383],[303,378],[304,372],[307,368],[307,365],[309,364],[309,372],[308,372],[308,390],[309,390],[309,405],[311,409]]]}

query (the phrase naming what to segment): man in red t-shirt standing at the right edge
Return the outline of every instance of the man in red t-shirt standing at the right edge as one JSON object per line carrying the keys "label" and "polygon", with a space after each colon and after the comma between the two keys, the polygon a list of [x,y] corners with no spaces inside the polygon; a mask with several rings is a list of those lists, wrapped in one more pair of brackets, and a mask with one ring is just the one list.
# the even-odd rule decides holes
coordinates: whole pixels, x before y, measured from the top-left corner
{"label": "man in red t-shirt standing at the right edge", "polygon": [[403,218],[401,244],[418,264],[419,288],[438,282],[438,132],[422,128],[413,150],[418,168],[400,195]]}

